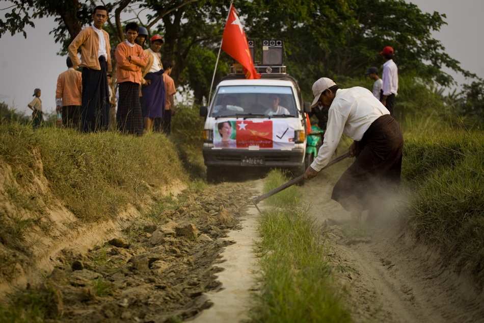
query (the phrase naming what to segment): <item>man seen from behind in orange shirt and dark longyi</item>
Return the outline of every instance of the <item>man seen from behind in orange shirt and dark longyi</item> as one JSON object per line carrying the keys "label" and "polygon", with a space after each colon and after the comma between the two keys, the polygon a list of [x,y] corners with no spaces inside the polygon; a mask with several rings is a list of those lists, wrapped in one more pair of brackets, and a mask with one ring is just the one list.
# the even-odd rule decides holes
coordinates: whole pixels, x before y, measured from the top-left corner
{"label": "man seen from behind in orange shirt and dark longyi", "polygon": [[57,78],[56,112],[62,112],[64,127],[78,129],[83,104],[82,73],[72,66],[70,57],[67,57],[66,64],[68,69]]}

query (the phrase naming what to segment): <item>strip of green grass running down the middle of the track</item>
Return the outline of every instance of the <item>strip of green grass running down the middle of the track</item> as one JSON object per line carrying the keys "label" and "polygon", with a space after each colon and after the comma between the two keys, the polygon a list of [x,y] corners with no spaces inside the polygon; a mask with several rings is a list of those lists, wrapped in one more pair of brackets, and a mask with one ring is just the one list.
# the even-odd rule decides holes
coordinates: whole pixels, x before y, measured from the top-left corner
{"label": "strip of green grass running down the middle of the track", "polygon": [[[268,174],[264,190],[286,182],[280,172]],[[249,313],[252,322],[351,322],[333,282],[332,267],[321,235],[299,206],[300,190],[273,195],[274,207],[259,218],[261,284]]]}

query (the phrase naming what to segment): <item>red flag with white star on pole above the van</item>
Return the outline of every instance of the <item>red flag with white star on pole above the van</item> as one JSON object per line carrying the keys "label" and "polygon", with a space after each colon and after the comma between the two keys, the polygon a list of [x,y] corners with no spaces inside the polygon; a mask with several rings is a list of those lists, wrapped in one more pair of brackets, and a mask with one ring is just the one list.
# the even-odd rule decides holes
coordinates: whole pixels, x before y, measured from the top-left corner
{"label": "red flag with white star on pole above the van", "polygon": [[229,17],[222,36],[222,49],[244,67],[247,79],[259,79],[249,51],[246,33],[233,6],[230,6]]}

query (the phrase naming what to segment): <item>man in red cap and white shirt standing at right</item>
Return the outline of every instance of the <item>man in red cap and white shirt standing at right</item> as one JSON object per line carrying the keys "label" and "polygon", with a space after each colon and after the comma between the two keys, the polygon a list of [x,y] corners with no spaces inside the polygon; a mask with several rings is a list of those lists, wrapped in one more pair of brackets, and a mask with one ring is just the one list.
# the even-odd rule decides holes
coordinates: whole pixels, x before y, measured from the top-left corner
{"label": "man in red cap and white shirt standing at right", "polygon": [[395,117],[393,107],[395,105],[395,96],[398,95],[398,68],[393,61],[393,48],[386,46],[380,54],[383,55],[383,60],[385,61],[382,74],[383,92],[380,101],[390,111],[390,115]]}

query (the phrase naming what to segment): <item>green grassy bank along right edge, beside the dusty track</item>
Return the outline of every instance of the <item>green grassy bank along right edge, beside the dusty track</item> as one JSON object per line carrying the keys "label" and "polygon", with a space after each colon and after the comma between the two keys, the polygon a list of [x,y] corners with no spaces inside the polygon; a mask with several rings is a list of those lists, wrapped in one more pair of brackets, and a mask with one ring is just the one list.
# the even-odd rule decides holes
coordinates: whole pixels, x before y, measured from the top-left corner
{"label": "green grassy bank along right edge, beside the dusty track", "polygon": [[407,134],[404,154],[411,227],[483,285],[484,135],[458,129],[432,137]]}

